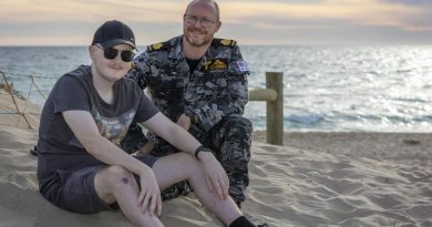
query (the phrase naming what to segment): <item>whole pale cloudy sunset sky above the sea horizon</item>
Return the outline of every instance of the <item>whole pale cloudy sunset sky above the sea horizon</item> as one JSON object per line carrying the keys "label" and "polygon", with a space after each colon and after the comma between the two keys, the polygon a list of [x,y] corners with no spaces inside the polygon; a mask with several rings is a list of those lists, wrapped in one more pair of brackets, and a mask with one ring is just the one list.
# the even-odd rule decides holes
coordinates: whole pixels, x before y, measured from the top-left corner
{"label": "whole pale cloudy sunset sky above the sea horizon", "polygon": [[[1,0],[0,45],[88,45],[121,20],[138,45],[182,33],[189,0]],[[216,37],[253,45],[432,44],[431,0],[218,0]]]}

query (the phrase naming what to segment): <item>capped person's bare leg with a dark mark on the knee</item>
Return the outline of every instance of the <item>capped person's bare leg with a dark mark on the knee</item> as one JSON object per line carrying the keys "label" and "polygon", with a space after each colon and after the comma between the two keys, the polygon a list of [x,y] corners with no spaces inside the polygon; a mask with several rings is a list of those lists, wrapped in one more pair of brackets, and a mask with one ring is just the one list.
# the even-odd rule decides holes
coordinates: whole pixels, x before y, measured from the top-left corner
{"label": "capped person's bare leg with a dark mark on the knee", "polygon": [[94,187],[106,204],[116,202],[134,225],[140,227],[163,227],[156,215],[143,214],[138,206],[138,185],[132,173],[121,166],[110,166],[101,169],[94,177]]}

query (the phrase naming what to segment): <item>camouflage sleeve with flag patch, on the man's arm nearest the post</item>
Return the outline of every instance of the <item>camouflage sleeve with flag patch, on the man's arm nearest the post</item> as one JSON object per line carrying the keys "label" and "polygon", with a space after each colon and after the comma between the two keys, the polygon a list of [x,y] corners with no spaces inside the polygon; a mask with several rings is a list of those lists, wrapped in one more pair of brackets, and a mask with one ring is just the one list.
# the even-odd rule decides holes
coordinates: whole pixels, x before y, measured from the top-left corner
{"label": "camouflage sleeve with flag patch, on the man's arm nearest the post", "polygon": [[249,69],[237,45],[233,48],[228,65],[226,91],[205,105],[199,103],[187,110],[192,112],[189,115],[193,118],[198,118],[198,124],[205,132],[212,130],[225,116],[245,112],[245,105],[248,101],[247,75],[249,74]]}

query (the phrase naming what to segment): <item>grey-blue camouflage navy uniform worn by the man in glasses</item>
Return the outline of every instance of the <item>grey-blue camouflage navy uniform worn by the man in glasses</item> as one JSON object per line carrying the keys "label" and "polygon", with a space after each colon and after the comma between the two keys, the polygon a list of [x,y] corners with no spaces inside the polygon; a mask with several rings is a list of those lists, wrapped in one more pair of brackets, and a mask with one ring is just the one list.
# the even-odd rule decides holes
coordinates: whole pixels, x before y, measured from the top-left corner
{"label": "grey-blue camouflage navy uniform worn by the man in glasses", "polygon": [[[150,45],[135,58],[128,78],[148,89],[161,112],[173,122],[182,114],[191,117],[193,134],[205,147],[215,152],[230,180],[229,194],[245,200],[249,183],[251,123],[243,117],[248,100],[246,62],[236,41],[214,39],[206,54],[191,74],[182,53],[183,35]],[[165,156],[177,152],[167,142],[154,137],[152,154]],[[179,183],[163,193],[168,199],[191,190]]]}

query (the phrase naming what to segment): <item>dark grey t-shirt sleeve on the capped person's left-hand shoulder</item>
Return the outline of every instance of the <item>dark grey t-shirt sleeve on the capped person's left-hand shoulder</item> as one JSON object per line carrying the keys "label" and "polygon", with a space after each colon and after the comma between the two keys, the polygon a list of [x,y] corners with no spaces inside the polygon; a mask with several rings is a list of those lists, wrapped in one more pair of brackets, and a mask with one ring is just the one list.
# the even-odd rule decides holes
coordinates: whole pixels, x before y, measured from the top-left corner
{"label": "dark grey t-shirt sleeve on the capped person's left-hand shoulder", "polygon": [[90,112],[88,91],[79,80],[64,75],[53,90],[54,113],[72,110]]}

